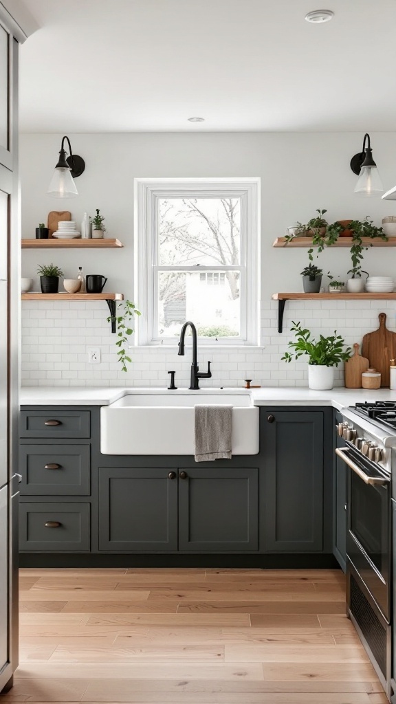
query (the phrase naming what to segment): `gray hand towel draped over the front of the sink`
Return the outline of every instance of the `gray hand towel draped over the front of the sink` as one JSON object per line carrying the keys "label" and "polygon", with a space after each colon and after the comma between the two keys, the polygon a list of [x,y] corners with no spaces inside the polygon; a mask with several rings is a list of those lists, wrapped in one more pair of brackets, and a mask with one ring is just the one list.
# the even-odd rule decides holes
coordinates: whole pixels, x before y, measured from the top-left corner
{"label": "gray hand towel draped over the front of the sink", "polygon": [[231,459],[233,406],[195,406],[195,461]]}

